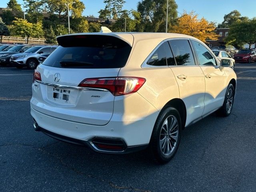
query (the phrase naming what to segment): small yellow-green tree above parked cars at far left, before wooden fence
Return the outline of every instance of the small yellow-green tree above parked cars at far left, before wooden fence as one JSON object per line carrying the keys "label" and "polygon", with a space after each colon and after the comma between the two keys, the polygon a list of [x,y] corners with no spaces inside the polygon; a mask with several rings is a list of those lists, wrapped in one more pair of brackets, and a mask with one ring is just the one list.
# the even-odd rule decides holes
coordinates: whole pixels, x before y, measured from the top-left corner
{"label": "small yellow-green tree above parked cars at far left, before wooden fence", "polygon": [[13,21],[14,25],[12,27],[13,34],[21,37],[27,37],[27,43],[28,38],[30,37],[36,37],[40,38],[43,34],[42,30],[42,24],[32,24],[29,23],[27,20],[15,18]]}

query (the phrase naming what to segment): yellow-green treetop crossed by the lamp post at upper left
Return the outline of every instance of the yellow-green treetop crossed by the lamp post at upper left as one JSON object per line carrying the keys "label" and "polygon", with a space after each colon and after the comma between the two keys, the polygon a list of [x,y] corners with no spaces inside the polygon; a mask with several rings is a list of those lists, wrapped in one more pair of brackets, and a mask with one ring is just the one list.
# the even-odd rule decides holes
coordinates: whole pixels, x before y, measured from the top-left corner
{"label": "yellow-green treetop crossed by the lamp post at upper left", "polygon": [[61,18],[62,14],[67,14],[68,9],[66,4],[70,2],[74,2],[72,4],[69,4],[69,10],[71,12],[72,17],[81,17],[82,12],[85,9],[85,6],[84,3],[80,0],[48,0],[47,7],[50,13],[58,14],[58,17]]}

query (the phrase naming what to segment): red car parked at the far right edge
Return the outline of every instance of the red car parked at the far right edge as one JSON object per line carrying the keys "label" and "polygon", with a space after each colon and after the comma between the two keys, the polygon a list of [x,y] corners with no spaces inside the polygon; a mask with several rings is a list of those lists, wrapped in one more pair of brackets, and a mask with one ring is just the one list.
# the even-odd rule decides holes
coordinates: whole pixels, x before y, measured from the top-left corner
{"label": "red car parked at the far right edge", "polygon": [[237,54],[234,54],[234,60],[236,62],[248,62],[256,61],[256,51],[254,49],[241,49]]}

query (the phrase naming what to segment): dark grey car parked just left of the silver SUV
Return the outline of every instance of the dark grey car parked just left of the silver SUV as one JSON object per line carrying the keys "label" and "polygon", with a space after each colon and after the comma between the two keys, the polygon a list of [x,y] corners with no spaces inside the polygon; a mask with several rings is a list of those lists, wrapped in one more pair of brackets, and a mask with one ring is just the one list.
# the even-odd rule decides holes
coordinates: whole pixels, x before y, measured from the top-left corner
{"label": "dark grey car parked just left of the silver SUV", "polygon": [[10,64],[10,57],[15,53],[23,53],[24,51],[31,48],[31,45],[14,45],[8,51],[0,52],[0,65]]}

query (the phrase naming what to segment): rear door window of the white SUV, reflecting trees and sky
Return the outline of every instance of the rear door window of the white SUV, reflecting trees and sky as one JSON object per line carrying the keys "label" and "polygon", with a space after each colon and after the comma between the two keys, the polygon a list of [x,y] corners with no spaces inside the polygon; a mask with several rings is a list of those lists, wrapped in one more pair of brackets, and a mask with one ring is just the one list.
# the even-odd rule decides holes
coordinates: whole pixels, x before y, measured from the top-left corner
{"label": "rear door window of the white SUV, reflecting trees and sky", "polygon": [[196,65],[188,40],[170,40],[177,65]]}

